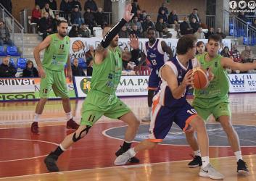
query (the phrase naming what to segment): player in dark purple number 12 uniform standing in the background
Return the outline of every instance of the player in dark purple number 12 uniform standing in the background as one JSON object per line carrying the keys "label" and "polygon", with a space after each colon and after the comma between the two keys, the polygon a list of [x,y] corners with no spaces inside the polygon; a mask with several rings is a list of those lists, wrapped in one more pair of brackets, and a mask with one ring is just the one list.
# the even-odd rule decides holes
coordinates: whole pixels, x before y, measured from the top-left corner
{"label": "player in dark purple number 12 uniform standing in the background", "polygon": [[160,77],[158,76],[160,67],[162,67],[162,65],[165,64],[165,62],[168,61],[168,59],[173,58],[172,49],[170,49],[170,46],[167,46],[165,41],[156,38],[154,28],[149,28],[147,30],[146,36],[147,38],[149,38],[149,41],[147,41],[143,45],[143,50],[141,54],[141,64],[145,62],[146,59],[148,59],[152,66],[152,72],[149,75],[149,87],[147,96],[149,113],[142,118],[143,122],[150,121],[152,98],[154,96],[154,91],[157,90],[161,80]]}

